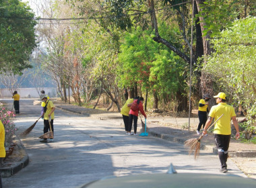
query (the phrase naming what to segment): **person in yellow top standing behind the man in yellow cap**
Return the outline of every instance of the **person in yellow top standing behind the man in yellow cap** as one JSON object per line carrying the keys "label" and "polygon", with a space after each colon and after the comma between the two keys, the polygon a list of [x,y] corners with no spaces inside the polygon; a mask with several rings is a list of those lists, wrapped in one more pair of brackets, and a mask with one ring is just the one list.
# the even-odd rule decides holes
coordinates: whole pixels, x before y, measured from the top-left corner
{"label": "person in yellow top standing behind the man in yellow cap", "polygon": [[203,128],[205,126],[205,123],[207,121],[207,112],[209,112],[208,109],[208,103],[211,99],[211,96],[209,94],[203,95],[203,99],[199,101],[199,107],[198,107],[198,118],[199,118],[199,124],[197,127],[197,134],[200,134],[201,126],[203,125]]}

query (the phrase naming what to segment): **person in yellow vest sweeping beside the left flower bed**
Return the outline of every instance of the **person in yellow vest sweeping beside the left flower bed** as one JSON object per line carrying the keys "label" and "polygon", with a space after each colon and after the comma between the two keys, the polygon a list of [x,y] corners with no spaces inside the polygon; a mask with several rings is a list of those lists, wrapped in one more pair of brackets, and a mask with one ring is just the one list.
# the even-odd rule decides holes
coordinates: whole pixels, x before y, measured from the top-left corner
{"label": "person in yellow vest sweeping beside the left flower bed", "polygon": [[[45,103],[44,106],[44,113],[42,114],[42,117],[44,118],[44,134],[46,132],[49,132],[50,130],[50,124],[49,121],[51,121],[51,130],[54,132],[53,129],[53,120],[54,120],[54,111],[55,111],[55,105],[53,104],[53,101],[50,99],[47,99],[47,95],[41,95],[40,99]],[[47,139],[45,138],[44,140],[41,141],[46,141]]]}

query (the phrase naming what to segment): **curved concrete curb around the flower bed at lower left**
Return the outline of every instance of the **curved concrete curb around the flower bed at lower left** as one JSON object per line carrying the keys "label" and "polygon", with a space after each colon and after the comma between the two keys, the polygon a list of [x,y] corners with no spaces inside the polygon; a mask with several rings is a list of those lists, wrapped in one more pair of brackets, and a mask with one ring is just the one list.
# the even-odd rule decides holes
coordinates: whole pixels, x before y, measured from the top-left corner
{"label": "curved concrete curb around the flower bed at lower left", "polygon": [[0,169],[1,177],[10,177],[11,175],[14,175],[15,173],[18,173],[19,171],[24,169],[26,166],[28,166],[28,163],[29,163],[28,153],[26,151],[26,148],[23,146],[20,138],[18,138],[18,140],[20,142],[18,144],[18,147],[20,147],[22,150],[24,150],[26,155],[22,158],[22,160],[20,160],[20,162],[16,162],[15,165],[13,165],[11,167],[1,168]]}

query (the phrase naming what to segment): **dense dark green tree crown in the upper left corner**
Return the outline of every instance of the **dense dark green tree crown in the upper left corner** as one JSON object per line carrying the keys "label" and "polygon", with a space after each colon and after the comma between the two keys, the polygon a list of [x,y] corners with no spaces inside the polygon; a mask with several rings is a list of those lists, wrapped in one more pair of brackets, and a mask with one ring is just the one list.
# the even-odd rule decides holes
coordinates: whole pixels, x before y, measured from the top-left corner
{"label": "dense dark green tree crown in the upper left corner", "polygon": [[0,68],[22,73],[31,68],[30,54],[36,47],[36,35],[30,7],[19,0],[0,0]]}

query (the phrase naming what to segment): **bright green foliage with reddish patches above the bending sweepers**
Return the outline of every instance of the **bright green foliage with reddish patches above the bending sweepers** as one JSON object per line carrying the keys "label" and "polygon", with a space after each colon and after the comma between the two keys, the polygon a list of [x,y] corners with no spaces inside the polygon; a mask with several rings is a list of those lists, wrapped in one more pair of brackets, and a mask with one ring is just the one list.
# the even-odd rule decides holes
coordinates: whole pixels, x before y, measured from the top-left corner
{"label": "bright green foliage with reddish patches above the bending sweepers", "polygon": [[[168,27],[164,24],[161,27],[160,32],[171,38]],[[174,94],[179,87],[185,86],[182,76],[185,63],[152,38],[150,31],[142,31],[140,27],[125,35],[119,53],[121,83],[125,86],[138,83],[160,95]]]}

